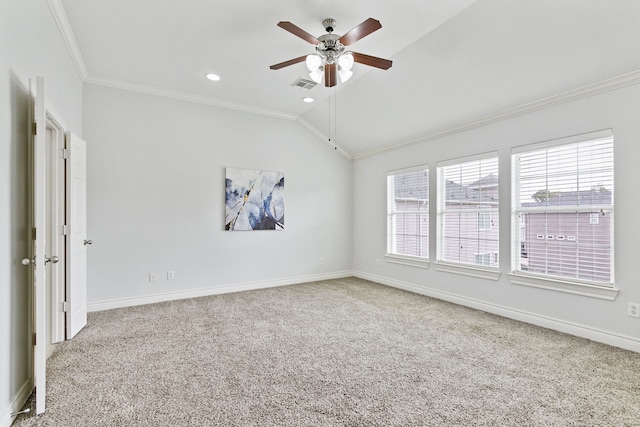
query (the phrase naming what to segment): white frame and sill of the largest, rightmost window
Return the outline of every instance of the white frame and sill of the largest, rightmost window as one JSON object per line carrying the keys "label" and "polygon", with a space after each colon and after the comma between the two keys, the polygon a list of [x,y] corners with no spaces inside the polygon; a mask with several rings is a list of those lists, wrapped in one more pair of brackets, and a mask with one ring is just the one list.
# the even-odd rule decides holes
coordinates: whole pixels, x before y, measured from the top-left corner
{"label": "white frame and sill of the largest, rightmost window", "polygon": [[[615,255],[614,255],[614,198],[613,193],[615,191],[614,188],[611,189],[611,205],[568,205],[568,206],[554,206],[547,208],[523,208],[520,206],[520,161],[518,160],[518,156],[524,153],[530,153],[533,151],[540,151],[554,147],[560,147],[563,145],[571,145],[571,144],[579,144],[583,142],[601,140],[601,139],[611,139],[612,150],[614,148],[614,136],[612,129],[604,129],[595,132],[588,132],[579,135],[573,135],[566,138],[559,138],[549,141],[543,141],[533,144],[521,145],[517,147],[512,147],[511,150],[511,268],[510,273],[508,274],[509,280],[512,284],[516,285],[524,285],[524,286],[533,286],[543,289],[550,289],[555,291],[567,292],[572,294],[584,295],[593,298],[600,298],[606,300],[614,300],[619,292],[619,290],[615,286]],[[612,154],[614,156],[615,154]],[[612,159],[613,160],[613,159]],[[611,172],[611,181],[615,179],[615,164],[613,166]],[[519,265],[519,261],[521,261],[522,251],[527,253],[527,257],[530,252],[528,249],[522,246],[523,240],[520,235],[520,223],[523,220],[523,213],[546,213],[546,214],[555,214],[555,213],[576,213],[580,214],[580,212],[591,213],[593,210],[597,209],[600,212],[605,212],[610,214],[610,282],[599,282],[595,280],[586,280],[579,278],[571,278],[565,276],[556,276],[552,274],[545,274],[539,272],[528,271],[527,269],[523,270],[522,265]],[[591,222],[591,218],[587,220]],[[593,224],[593,223],[592,223]],[[550,239],[551,235],[543,235],[544,240]],[[562,238],[560,238],[562,237]],[[567,240],[574,241],[576,236],[557,236],[559,240]],[[540,236],[538,236],[540,239]],[[527,266],[529,260],[527,259]]]}

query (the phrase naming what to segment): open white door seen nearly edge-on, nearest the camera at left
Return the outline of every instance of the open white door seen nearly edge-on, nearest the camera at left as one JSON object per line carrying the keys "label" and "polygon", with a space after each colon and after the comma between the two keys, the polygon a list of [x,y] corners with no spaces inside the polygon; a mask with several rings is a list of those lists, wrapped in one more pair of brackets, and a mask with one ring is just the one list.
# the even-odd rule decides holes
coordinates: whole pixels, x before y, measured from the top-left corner
{"label": "open white door seen nearly edge-on, nearest the camera at left", "polygon": [[46,112],[44,106],[44,79],[38,77],[31,81],[31,101],[33,108],[33,140],[30,147],[31,157],[31,239],[33,243],[31,258],[22,260],[24,265],[33,267],[33,375],[36,388],[36,413],[41,414],[45,409],[46,399],[46,269],[48,262],[45,255],[45,216],[46,216],[46,187],[45,187],[45,144],[46,144]]}

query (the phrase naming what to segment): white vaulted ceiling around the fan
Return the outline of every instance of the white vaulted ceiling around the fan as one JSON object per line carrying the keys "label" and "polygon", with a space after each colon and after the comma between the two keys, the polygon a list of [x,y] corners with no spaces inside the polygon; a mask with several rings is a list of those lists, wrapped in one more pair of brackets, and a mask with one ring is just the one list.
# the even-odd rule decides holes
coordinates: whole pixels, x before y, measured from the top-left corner
{"label": "white vaulted ceiling around the fan", "polygon": [[[298,120],[351,157],[640,70],[637,0],[49,1],[87,82]],[[279,21],[320,36],[369,17],[382,29],[351,47],[389,70],[307,90],[291,86],[304,63],[269,69],[313,52]]]}

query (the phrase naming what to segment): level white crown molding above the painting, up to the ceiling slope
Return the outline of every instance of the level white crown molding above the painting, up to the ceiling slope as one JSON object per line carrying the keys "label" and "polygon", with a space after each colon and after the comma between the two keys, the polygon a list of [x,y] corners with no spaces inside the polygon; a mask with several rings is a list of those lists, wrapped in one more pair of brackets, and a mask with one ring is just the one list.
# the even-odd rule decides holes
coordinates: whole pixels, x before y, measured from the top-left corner
{"label": "level white crown molding above the painting, up to the ceiling slope", "polygon": [[144,93],[146,95],[161,96],[164,98],[177,99],[179,101],[193,102],[195,104],[211,105],[214,107],[227,108],[229,110],[243,111],[245,113],[259,114],[262,116],[275,117],[277,119],[284,120],[297,120],[296,116],[285,113],[278,113],[270,110],[263,110],[260,108],[251,107],[248,105],[232,104],[225,101],[220,101],[214,98],[208,98],[200,95],[193,95],[187,92],[180,92],[177,90],[162,89],[159,87],[147,86],[139,83],[127,82],[124,80],[108,79],[102,77],[87,77],[84,80],[87,84],[96,86],[106,86],[115,89],[128,90],[131,92]]}

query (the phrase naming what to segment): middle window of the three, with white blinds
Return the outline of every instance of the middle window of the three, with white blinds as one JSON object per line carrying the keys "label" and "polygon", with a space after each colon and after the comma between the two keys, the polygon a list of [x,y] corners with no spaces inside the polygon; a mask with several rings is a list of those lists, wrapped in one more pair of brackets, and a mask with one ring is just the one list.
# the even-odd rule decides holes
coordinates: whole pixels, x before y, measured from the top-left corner
{"label": "middle window of the three, with white blinds", "polygon": [[438,164],[438,262],[498,267],[498,155]]}

